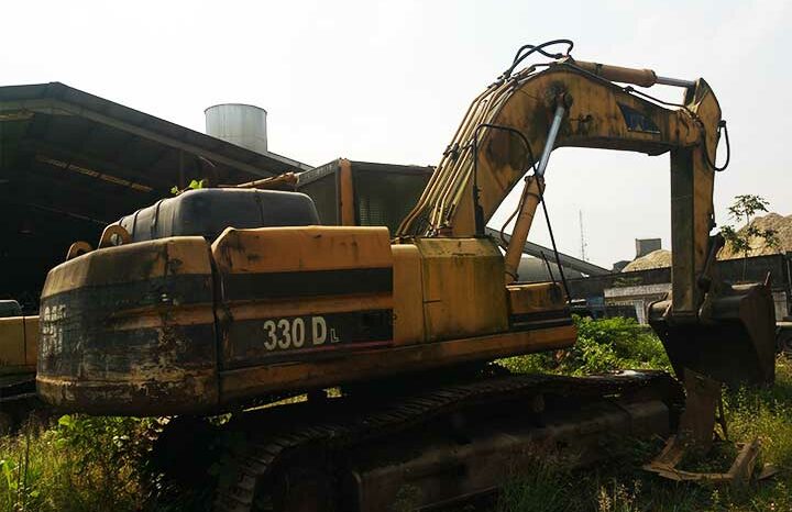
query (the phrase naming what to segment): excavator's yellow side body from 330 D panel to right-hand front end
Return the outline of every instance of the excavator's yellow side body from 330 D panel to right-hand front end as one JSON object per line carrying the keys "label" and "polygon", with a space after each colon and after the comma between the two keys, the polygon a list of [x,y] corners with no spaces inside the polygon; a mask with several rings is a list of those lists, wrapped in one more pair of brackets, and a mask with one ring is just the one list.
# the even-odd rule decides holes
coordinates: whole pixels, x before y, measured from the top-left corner
{"label": "excavator's yellow side body from 330 D panel to right-hand front end", "polygon": [[[541,287],[517,294],[524,302],[543,300],[539,309],[561,308],[554,314],[565,320],[510,330],[503,257],[492,242],[422,242],[391,246],[383,227],[227,231],[212,246],[222,285],[222,405],[351,382],[375,386],[388,376],[574,343],[563,304]],[[327,331],[317,335],[315,322]]]}

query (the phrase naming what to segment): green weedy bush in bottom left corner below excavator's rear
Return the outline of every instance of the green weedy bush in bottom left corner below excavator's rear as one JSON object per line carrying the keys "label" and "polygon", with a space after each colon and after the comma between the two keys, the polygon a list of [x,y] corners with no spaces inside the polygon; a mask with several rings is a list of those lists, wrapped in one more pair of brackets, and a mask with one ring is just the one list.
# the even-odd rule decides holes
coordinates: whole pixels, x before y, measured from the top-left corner
{"label": "green weedy bush in bottom left corner below excavator's rear", "polygon": [[62,416],[0,438],[0,510],[141,510],[151,421]]}

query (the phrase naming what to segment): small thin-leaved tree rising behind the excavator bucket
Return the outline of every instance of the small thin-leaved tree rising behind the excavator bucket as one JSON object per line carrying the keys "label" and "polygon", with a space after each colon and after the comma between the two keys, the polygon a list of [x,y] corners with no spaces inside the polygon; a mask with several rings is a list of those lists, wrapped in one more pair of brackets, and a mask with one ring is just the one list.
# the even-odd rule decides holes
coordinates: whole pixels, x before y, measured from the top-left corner
{"label": "small thin-leaved tree rising behind the excavator bucket", "polygon": [[768,207],[770,207],[770,201],[761,196],[737,196],[729,207],[729,216],[733,221],[745,223],[745,225],[741,229],[735,229],[732,225],[725,225],[721,229],[721,234],[732,251],[743,254],[743,280],[746,278],[752,240],[763,240],[765,245],[768,247],[779,246],[776,230],[760,230],[752,223],[756,213],[768,212]]}

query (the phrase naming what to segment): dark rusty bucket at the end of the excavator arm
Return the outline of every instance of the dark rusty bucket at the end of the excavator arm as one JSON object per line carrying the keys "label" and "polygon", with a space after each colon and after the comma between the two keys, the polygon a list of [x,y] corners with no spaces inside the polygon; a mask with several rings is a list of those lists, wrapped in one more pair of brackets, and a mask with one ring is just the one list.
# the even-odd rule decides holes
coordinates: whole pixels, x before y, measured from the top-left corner
{"label": "dark rusty bucket at the end of the excavator arm", "polygon": [[671,301],[649,308],[649,323],[678,377],[703,374],[730,387],[770,385],[776,377],[776,312],[767,285],[735,285],[705,302],[698,319],[670,314]]}

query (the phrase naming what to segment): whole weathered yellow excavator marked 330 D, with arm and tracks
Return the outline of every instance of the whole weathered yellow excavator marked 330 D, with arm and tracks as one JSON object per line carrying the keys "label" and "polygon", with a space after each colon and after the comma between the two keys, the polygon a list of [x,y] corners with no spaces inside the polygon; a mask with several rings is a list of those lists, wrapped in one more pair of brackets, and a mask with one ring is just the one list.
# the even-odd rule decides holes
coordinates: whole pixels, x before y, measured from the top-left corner
{"label": "whole weathered yellow excavator marked 330 D, with arm and tracks", "polygon": [[[223,432],[244,443],[226,454],[212,507],[239,512],[448,510],[539,447],[584,464],[608,436],[671,434],[684,392],[668,374],[488,364],[575,342],[563,278],[527,283],[517,271],[547,212],[551,152],[565,146],[670,155],[673,288],[651,324],[679,379],[772,382],[767,283],[727,286],[714,270],[725,131],[714,92],[571,49],[519,49],[394,233],[320,225],[302,193],[235,188],[162,200],[108,226],[96,249],[76,243],[42,292],[38,393],[89,414],[231,412]],[[537,55],[549,62],[522,64]],[[654,85],[681,88],[682,101],[634,87]],[[510,237],[487,236],[520,181]],[[354,224],[344,190],[338,223]],[[187,452],[206,444],[197,430],[170,437],[193,439]]]}

